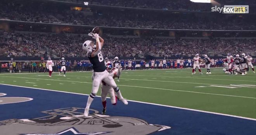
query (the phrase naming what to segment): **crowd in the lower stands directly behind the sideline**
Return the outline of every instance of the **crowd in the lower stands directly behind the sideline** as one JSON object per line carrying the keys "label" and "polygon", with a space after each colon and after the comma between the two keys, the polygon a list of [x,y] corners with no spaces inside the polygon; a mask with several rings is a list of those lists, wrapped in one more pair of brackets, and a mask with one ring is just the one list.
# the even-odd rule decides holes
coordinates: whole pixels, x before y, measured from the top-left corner
{"label": "crowd in the lower stands directly behind the sideline", "polygon": [[[81,44],[90,40],[87,35],[49,34],[49,33],[12,33],[0,32],[0,56],[40,57],[50,50],[56,56],[83,57]],[[104,37],[102,49],[106,57],[135,57],[140,54],[154,54],[160,57],[194,56],[195,54],[240,54],[256,49],[256,40],[246,39],[135,39]]]}

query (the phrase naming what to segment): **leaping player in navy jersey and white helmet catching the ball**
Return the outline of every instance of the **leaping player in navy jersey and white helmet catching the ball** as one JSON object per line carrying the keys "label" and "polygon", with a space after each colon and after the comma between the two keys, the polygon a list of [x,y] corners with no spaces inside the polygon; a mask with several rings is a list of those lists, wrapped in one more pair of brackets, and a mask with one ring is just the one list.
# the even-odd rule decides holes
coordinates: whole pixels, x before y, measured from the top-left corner
{"label": "leaping player in navy jersey and white helmet catching the ball", "polygon": [[118,86],[116,85],[114,79],[111,76],[109,76],[109,73],[106,71],[104,65],[104,58],[100,51],[104,44],[104,40],[98,34],[89,33],[88,35],[96,40],[96,45],[94,45],[91,40],[86,40],[83,43],[83,49],[87,52],[87,56],[90,62],[92,63],[93,69],[92,93],[90,94],[90,96],[88,96],[84,112],[85,117],[87,117],[89,114],[90,105],[93,101],[93,98],[95,98],[98,92],[101,81],[104,81],[105,83],[109,84],[114,89],[116,94],[119,96],[120,100],[123,103],[128,104],[128,102],[121,95],[121,92]]}

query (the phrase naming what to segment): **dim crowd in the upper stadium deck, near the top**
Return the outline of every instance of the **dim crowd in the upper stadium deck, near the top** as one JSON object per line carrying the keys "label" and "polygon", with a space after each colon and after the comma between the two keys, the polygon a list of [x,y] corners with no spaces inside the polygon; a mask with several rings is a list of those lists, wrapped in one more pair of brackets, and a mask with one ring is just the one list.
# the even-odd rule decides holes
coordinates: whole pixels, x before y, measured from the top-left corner
{"label": "dim crowd in the upper stadium deck, near the top", "polygon": [[[110,2],[108,0],[102,2],[105,1],[107,3]],[[162,1],[164,0],[157,3],[164,3]],[[128,1],[125,3],[128,3]],[[182,14],[181,16],[177,16],[175,14],[166,14],[162,12],[134,12],[134,10],[125,10],[122,12],[119,10],[101,11],[97,9],[91,10],[93,15],[85,15],[83,12],[70,10],[70,7],[66,5],[56,6],[50,3],[31,2],[21,4],[19,2],[5,1],[5,3],[0,3],[0,6],[2,7],[2,9],[0,9],[0,19],[22,20],[28,22],[155,29],[256,29],[252,18],[249,18],[246,15],[242,18],[238,16],[226,18],[221,15],[203,17],[193,14]]]}

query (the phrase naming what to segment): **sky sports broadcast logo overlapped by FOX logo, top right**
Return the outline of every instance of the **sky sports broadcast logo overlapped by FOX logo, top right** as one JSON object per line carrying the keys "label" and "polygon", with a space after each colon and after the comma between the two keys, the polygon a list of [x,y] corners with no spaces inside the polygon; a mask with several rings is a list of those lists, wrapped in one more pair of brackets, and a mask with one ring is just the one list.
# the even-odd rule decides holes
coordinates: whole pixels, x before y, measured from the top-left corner
{"label": "sky sports broadcast logo overlapped by FOX logo, top right", "polygon": [[249,14],[249,5],[224,5],[224,7],[211,7],[211,12],[223,14]]}

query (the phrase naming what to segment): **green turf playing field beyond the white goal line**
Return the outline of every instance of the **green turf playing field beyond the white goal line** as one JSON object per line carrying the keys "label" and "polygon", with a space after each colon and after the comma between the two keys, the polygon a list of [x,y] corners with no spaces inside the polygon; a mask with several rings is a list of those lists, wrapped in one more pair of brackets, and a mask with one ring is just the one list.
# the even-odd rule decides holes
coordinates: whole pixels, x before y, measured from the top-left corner
{"label": "green turf playing field beyond the white goal line", "polygon": [[[122,71],[120,82],[116,83],[128,100],[256,118],[256,74],[250,71],[246,76],[228,75],[220,68],[211,69],[210,75],[198,71],[191,74],[191,70]],[[91,72],[75,72],[64,77],[54,73],[49,78],[47,73],[0,74],[0,83],[90,94],[91,75]],[[230,84],[251,86],[215,87],[235,87]]]}

